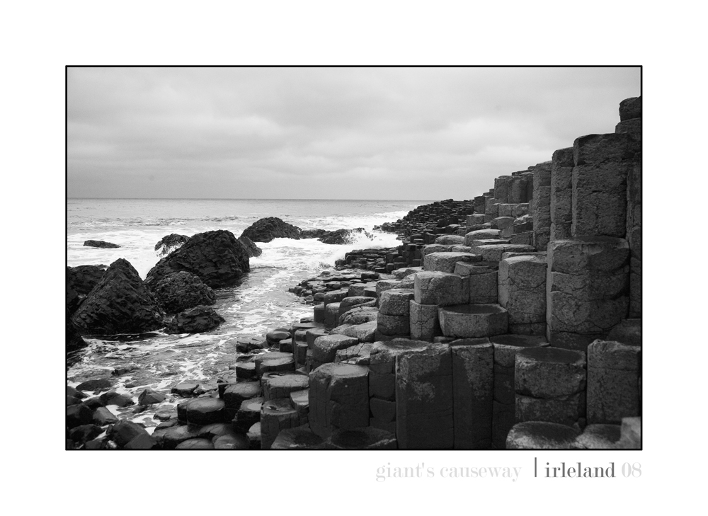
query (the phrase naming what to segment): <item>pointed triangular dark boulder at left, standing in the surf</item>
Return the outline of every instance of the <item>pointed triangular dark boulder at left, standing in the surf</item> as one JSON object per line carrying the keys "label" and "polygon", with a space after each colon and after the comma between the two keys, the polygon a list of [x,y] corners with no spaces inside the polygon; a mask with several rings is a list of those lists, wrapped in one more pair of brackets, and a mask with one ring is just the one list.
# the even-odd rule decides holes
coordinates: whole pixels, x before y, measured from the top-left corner
{"label": "pointed triangular dark boulder at left, standing in the surf", "polygon": [[72,317],[84,335],[140,333],[161,328],[162,313],[130,262],[118,258]]}

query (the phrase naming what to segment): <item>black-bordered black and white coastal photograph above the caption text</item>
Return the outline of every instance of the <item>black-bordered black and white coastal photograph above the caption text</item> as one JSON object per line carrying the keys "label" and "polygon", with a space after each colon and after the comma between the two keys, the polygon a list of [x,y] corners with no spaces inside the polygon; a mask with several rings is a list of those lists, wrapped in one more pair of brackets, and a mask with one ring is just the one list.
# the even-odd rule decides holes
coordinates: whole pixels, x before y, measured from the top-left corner
{"label": "black-bordered black and white coastal photograph above the caption text", "polygon": [[67,352],[67,449],[640,449],[641,67],[67,67]]}

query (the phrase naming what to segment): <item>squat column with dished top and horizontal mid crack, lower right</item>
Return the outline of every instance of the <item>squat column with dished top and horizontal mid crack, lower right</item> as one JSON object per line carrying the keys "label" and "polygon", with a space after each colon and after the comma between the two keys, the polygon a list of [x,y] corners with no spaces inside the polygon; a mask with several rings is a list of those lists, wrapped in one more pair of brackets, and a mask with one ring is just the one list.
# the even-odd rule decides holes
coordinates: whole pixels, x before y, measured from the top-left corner
{"label": "squat column with dished top and horizontal mid crack, lower right", "polygon": [[585,425],[585,353],[561,348],[530,348],[516,355],[516,422],[547,421]]}

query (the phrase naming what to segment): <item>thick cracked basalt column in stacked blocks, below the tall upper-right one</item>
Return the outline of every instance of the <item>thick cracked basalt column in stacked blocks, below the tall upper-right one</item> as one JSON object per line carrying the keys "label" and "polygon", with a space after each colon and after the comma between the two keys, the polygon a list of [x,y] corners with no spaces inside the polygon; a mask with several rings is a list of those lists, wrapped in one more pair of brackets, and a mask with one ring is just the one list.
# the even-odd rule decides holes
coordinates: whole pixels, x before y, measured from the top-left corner
{"label": "thick cracked basalt column in stacked blocks, below the tall upper-right one", "polygon": [[547,338],[584,351],[627,318],[629,244],[609,236],[556,240],[548,246]]}

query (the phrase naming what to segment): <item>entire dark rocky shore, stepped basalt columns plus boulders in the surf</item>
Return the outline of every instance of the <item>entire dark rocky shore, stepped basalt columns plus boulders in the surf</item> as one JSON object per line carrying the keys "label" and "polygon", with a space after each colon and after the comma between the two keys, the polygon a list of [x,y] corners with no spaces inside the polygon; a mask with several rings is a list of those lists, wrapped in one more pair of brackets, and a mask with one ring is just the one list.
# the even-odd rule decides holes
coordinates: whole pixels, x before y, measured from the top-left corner
{"label": "entire dark rocky shore, stepped basalt columns plus boulders in the surf", "polygon": [[[237,343],[212,382],[67,386],[67,449],[641,447],[641,98],[619,115],[484,195],[384,224],[400,246],[293,286],[312,317]],[[144,282],[125,260],[67,268],[67,350],[89,334],[210,331],[213,291],[248,273],[248,242],[303,234],[316,233],[270,217],[239,239],[171,235]],[[166,401],[152,434],[107,408]]]}

